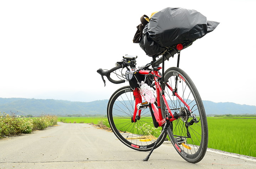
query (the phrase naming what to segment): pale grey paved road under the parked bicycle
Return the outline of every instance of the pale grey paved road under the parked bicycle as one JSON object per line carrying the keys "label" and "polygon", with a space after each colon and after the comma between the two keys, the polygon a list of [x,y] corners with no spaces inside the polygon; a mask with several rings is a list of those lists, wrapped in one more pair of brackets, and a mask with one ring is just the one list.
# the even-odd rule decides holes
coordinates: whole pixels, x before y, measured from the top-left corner
{"label": "pale grey paved road under the parked bicycle", "polygon": [[170,142],[148,152],[124,146],[113,133],[90,124],[65,124],[0,140],[0,169],[9,168],[190,168],[255,169],[256,158],[209,150],[191,164],[178,156]]}

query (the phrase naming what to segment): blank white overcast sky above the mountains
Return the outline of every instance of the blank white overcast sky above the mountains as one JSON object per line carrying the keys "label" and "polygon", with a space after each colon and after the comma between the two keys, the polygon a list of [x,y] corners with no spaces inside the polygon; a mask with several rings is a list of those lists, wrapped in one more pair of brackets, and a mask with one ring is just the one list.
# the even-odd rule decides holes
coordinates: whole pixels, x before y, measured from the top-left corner
{"label": "blank white overcast sky above the mountains", "polygon": [[114,67],[126,54],[138,55],[138,66],[150,62],[132,39],[142,15],[165,7],[220,22],[181,52],[180,68],[202,99],[256,105],[255,0],[1,0],[0,97],[108,99],[128,83],[105,78],[103,87],[96,70]]}

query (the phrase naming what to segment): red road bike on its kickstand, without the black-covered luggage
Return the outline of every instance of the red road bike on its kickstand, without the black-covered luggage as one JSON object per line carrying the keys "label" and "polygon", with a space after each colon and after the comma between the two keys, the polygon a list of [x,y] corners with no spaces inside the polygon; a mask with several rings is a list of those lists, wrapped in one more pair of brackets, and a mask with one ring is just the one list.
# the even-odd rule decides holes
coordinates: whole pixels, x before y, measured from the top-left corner
{"label": "red road bike on its kickstand, without the black-covered luggage", "polygon": [[[165,60],[176,53],[177,67],[164,71]],[[126,55],[116,63],[116,67],[97,70],[104,83],[103,76],[115,84],[129,81],[129,86],[116,90],[108,101],[107,117],[113,133],[124,145],[134,150],[150,151],[144,161],[167,139],[187,162],[201,161],[208,145],[207,118],[196,86],[178,68],[180,51],[168,49],[161,53],[160,58],[152,57],[151,63],[137,68],[136,58]],[[125,73],[124,68],[127,69]],[[113,80],[112,72],[126,80]],[[140,91],[143,83],[148,84],[154,92],[154,102],[147,101]]]}

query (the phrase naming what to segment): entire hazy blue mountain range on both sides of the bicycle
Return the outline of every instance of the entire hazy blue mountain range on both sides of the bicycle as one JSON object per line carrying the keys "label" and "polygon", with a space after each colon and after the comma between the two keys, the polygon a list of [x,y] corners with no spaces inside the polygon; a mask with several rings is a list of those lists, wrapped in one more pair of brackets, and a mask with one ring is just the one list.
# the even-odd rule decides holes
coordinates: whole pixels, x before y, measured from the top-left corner
{"label": "entire hazy blue mountain range on both sides of the bicycle", "polygon": [[[92,102],[71,102],[53,99],[0,98],[0,112],[16,115],[41,114],[106,114],[108,100]],[[203,101],[206,114],[256,114],[256,106],[239,105],[236,103],[215,103]]]}

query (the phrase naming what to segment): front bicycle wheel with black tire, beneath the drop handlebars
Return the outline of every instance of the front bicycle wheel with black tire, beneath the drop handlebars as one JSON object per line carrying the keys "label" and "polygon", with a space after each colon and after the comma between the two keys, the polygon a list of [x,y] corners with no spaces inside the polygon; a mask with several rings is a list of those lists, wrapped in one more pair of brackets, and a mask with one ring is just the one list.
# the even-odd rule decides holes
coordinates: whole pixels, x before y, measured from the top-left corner
{"label": "front bicycle wheel with black tire, beneath the drop handlebars", "polygon": [[[124,145],[137,151],[150,151],[162,127],[155,128],[149,108],[142,109],[140,119],[132,122],[134,112],[134,96],[130,86],[116,90],[107,105],[107,117],[116,137]],[[156,148],[165,140],[167,133],[160,138]]]}

